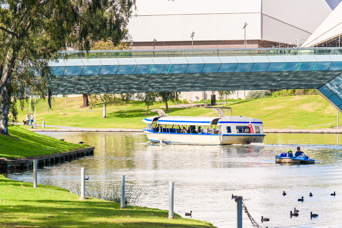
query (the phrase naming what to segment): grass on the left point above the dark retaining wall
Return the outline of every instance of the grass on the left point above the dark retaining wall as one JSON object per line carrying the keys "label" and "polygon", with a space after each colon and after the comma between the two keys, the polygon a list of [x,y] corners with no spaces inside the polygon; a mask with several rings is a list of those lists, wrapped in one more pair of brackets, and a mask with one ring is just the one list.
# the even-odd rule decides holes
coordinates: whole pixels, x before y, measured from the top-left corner
{"label": "grass on the left point above the dark retaining wall", "polygon": [[59,152],[87,148],[88,145],[73,144],[27,131],[18,126],[9,128],[10,136],[0,135],[0,158],[38,157]]}

